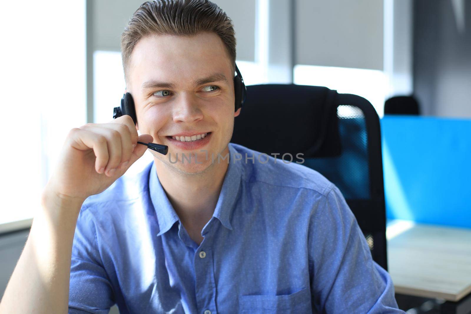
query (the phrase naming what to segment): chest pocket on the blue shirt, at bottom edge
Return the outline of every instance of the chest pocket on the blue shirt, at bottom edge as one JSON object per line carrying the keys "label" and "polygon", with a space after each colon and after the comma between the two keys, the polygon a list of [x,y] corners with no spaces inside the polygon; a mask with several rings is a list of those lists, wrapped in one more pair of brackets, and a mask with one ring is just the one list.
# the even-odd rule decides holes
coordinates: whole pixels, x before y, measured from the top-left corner
{"label": "chest pocket on the blue shirt, at bottom edge", "polygon": [[240,296],[239,306],[240,313],[312,313],[309,288],[303,288],[298,292],[280,296]]}

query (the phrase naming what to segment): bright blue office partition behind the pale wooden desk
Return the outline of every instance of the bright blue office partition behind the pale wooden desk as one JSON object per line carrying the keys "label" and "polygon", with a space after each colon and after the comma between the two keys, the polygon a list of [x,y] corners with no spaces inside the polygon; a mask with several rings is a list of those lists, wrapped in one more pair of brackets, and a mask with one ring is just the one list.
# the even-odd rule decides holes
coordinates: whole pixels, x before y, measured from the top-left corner
{"label": "bright blue office partition behind the pale wooden desk", "polygon": [[471,120],[381,119],[386,215],[471,228]]}

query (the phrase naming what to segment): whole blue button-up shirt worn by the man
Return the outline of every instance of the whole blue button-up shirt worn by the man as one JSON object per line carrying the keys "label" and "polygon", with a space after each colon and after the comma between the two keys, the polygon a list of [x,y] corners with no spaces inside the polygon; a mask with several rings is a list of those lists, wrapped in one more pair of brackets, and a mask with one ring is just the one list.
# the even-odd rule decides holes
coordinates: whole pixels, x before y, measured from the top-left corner
{"label": "whole blue button-up shirt worn by the man", "polygon": [[69,313],[115,303],[121,314],[404,313],[335,185],[241,145],[229,153],[200,245],[154,162],[90,196],[73,239]]}

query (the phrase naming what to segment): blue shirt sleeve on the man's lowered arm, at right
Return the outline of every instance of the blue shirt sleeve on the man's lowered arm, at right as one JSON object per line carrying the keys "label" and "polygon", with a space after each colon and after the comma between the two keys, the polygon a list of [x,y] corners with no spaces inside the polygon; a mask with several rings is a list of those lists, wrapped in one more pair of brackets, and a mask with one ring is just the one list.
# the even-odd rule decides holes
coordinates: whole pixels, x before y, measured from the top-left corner
{"label": "blue shirt sleeve on the man's lowered arm, at right", "polygon": [[405,313],[335,185],[309,221],[309,268],[317,313]]}

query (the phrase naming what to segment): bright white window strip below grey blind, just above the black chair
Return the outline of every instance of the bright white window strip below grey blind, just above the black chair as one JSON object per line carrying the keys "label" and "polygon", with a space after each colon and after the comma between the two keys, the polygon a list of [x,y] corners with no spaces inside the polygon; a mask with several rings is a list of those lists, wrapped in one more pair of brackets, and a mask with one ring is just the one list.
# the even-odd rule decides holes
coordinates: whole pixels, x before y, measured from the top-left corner
{"label": "bright white window strip below grey blind, just above the black chair", "polygon": [[384,115],[389,85],[382,71],[298,64],[294,66],[293,76],[297,85],[325,86],[342,94],[364,97],[380,118]]}

